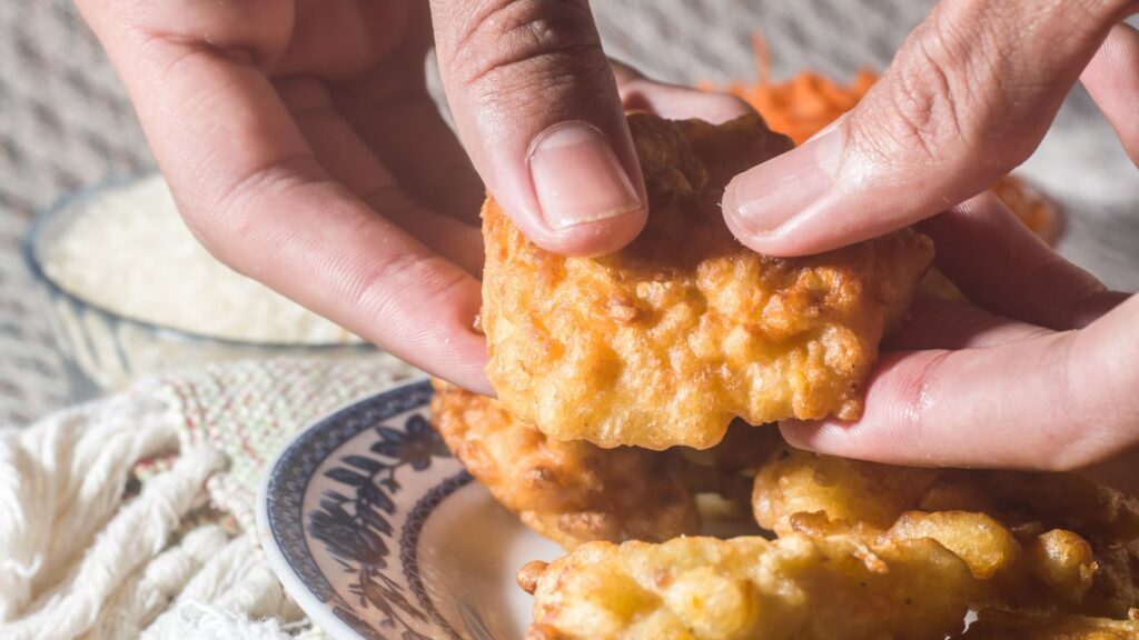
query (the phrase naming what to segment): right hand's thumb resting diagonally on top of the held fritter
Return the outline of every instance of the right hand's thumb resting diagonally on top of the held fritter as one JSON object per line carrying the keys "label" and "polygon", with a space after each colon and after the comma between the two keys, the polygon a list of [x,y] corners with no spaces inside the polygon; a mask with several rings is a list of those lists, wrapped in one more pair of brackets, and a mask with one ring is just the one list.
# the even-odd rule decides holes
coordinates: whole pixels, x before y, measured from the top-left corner
{"label": "right hand's thumb resting diagonally on top of the held fritter", "polygon": [[767,254],[818,253],[983,191],[1040,143],[1134,0],[942,0],[846,116],[737,175],[724,216]]}

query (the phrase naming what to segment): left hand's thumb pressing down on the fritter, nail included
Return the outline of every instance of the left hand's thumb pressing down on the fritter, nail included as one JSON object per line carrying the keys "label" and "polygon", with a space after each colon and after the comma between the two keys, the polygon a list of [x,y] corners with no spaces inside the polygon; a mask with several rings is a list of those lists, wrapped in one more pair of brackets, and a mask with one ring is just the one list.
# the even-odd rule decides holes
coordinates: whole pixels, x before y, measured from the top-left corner
{"label": "left hand's thumb pressing down on the fritter, nail included", "polygon": [[612,253],[645,225],[646,197],[587,0],[432,0],[459,137],[531,240]]}

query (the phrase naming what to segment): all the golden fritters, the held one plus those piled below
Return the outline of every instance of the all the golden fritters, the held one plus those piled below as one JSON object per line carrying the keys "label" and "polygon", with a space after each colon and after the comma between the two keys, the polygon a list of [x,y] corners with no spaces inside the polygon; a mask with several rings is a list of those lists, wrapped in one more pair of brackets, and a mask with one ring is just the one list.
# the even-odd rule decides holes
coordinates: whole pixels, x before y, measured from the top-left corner
{"label": "all the golden fritters, the held one plus those piled below", "polygon": [[[499,400],[440,384],[432,405],[472,475],[572,550],[519,572],[530,637],[1139,637],[1133,499],[1071,475],[857,462],[789,449],[771,426],[729,429],[736,416],[858,416],[932,247],[903,230],[809,259],[754,254],[722,221],[723,186],[788,143],[755,117],[630,126],[645,232],[614,255],[560,257],[489,200],[482,326]],[[690,535],[700,495],[738,503],[747,485],[775,540]]]}

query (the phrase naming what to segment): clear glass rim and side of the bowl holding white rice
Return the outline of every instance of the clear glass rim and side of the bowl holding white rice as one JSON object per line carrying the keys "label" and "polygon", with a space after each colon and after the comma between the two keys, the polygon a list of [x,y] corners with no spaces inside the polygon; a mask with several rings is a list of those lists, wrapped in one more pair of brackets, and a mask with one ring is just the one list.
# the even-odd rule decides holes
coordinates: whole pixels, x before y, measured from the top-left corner
{"label": "clear glass rim and side of the bowl holding white rice", "polygon": [[24,237],[24,261],[35,281],[38,302],[63,356],[73,400],[121,389],[142,374],[208,362],[270,358],[394,358],[368,343],[246,342],[165,327],[84,300],[55,281],[44,269],[43,256],[67,224],[83,214],[84,205],[110,189],[129,187],[151,175],[113,179],[67,195],[40,213]]}

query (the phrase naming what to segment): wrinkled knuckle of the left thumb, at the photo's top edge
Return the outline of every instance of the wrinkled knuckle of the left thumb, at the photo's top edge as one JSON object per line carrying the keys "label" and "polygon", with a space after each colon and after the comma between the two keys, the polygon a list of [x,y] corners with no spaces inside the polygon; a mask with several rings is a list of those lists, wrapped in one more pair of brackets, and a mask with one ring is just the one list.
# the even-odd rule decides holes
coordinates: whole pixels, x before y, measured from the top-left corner
{"label": "wrinkled knuckle of the left thumb, at the photo's top edge", "polygon": [[582,72],[607,71],[585,2],[500,0],[452,43],[451,73],[476,95],[556,92]]}

